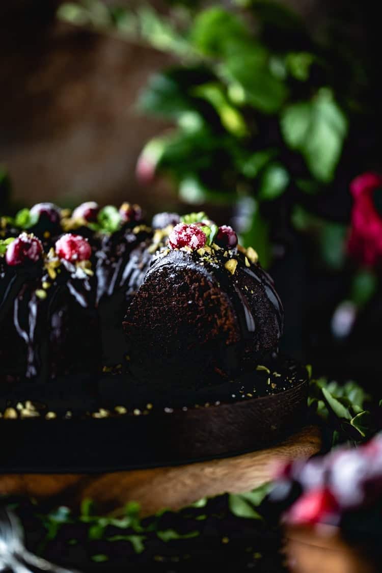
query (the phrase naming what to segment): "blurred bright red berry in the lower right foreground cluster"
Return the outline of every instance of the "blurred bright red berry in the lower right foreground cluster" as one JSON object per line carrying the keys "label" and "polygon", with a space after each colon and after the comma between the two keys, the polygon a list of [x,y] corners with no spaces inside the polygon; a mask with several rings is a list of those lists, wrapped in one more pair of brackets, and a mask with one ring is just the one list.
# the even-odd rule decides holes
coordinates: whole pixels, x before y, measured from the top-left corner
{"label": "blurred bright red berry in the lower right foreground cluster", "polygon": [[286,516],[288,523],[308,525],[333,521],[338,512],[338,503],[328,488],[312,489],[294,502]]}

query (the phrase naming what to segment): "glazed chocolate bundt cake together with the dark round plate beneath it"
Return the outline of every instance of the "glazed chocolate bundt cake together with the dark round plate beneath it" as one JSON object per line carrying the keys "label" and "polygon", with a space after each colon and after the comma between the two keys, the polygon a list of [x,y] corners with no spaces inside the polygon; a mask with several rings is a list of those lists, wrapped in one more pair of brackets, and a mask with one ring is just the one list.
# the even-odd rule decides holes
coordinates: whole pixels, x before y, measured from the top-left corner
{"label": "glazed chocolate bundt cake together with the dark round plate beneath it", "polygon": [[282,305],[257,258],[204,213],[2,217],[0,470],[186,463],[301,425],[306,370],[278,355]]}

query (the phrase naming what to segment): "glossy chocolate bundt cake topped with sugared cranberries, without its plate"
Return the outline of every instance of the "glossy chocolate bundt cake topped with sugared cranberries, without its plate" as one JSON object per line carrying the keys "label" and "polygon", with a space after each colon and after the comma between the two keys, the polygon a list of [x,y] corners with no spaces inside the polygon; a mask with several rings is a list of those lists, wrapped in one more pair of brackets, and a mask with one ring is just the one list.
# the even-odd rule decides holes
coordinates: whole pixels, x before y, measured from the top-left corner
{"label": "glossy chocolate bundt cake topped with sugared cranberries, without its plate", "polygon": [[[153,230],[152,230],[153,228]],[[277,351],[282,306],[251,248],[204,213],[52,203],[2,218],[0,375],[47,382],[128,370],[198,389]]]}

